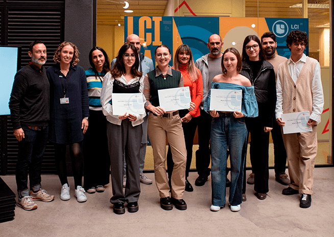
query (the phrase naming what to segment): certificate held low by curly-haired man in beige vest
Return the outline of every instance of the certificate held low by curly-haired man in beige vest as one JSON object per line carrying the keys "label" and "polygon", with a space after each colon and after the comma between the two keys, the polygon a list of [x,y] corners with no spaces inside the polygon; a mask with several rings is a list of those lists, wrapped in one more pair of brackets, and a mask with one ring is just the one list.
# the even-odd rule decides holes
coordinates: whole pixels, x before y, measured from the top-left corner
{"label": "certificate held low by curly-haired man in beige vest", "polygon": [[283,125],[283,134],[302,133],[304,131],[312,131],[312,126],[307,124],[309,119],[309,111],[282,114],[281,120],[285,122]]}

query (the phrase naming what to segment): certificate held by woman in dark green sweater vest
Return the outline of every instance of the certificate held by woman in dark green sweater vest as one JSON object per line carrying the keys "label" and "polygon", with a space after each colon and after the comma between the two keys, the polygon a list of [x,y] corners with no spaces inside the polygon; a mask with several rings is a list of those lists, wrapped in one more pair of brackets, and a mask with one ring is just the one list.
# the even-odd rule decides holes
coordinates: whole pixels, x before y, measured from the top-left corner
{"label": "certificate held by woman in dark green sweater vest", "polygon": [[190,108],[189,87],[177,87],[158,90],[159,104],[165,111],[184,110]]}

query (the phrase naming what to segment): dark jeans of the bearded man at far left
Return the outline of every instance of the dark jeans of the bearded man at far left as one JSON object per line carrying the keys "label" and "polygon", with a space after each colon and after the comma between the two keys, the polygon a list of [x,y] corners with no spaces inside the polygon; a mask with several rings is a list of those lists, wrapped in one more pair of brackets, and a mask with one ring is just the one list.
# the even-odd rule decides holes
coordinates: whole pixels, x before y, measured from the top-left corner
{"label": "dark jeans of the bearded man at far left", "polygon": [[41,163],[46,147],[49,127],[33,130],[22,126],[25,138],[18,142],[18,154],[15,170],[17,192],[19,198],[29,196],[28,171],[30,189],[38,191],[41,188]]}

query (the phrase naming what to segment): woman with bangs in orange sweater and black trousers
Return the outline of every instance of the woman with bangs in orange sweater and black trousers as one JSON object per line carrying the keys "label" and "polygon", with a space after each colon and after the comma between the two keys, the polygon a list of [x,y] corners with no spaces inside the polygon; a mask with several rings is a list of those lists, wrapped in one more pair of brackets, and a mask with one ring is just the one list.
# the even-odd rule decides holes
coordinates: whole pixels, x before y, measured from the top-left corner
{"label": "woman with bangs in orange sweater and black trousers", "polygon": [[[186,44],[182,44],[176,49],[173,68],[181,72],[183,76],[183,86],[189,87],[190,97],[195,103],[195,109],[193,111],[179,110],[185,140],[185,148],[187,150],[185,191],[193,192],[193,186],[189,183],[187,177],[189,176],[190,164],[192,164],[194,137],[197,128],[198,116],[200,116],[199,106],[203,98],[202,74],[201,71],[195,67],[192,50]],[[167,167],[170,185],[173,166],[174,162],[172,159],[171,147],[169,146],[167,153]]]}

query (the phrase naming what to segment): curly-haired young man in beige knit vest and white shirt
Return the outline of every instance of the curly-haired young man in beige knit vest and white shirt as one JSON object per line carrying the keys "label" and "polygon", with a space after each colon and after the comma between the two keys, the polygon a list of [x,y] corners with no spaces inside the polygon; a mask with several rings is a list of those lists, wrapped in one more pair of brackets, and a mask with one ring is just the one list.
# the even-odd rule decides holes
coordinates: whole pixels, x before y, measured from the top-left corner
{"label": "curly-haired young man in beige knit vest and white shirt", "polygon": [[321,84],[320,64],[304,54],[308,38],[305,32],[295,30],[287,36],[291,51],[288,61],[278,66],[276,121],[285,124],[282,114],[309,111],[308,125],[312,131],[283,134],[287,150],[291,183],[283,189],[283,195],[301,194],[300,207],[311,206],[313,171],[317,155],[317,124],[321,122],[324,96]]}

